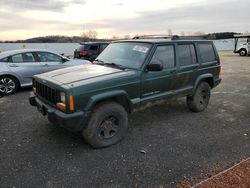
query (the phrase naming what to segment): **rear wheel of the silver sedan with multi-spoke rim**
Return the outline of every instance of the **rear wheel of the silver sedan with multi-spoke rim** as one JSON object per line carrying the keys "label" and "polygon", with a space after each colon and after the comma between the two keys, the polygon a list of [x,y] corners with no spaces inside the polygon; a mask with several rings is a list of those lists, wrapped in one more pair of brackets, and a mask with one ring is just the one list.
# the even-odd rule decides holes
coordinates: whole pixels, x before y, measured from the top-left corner
{"label": "rear wheel of the silver sedan with multi-spoke rim", "polygon": [[10,95],[19,89],[19,82],[13,76],[0,76],[0,93],[1,95]]}

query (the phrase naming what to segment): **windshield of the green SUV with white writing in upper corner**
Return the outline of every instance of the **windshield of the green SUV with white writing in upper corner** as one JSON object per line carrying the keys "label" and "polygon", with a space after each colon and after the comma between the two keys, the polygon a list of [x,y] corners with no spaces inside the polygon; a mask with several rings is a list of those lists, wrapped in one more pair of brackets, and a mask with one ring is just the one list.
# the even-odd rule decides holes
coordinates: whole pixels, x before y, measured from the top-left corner
{"label": "windshield of the green SUV with white writing in upper corner", "polygon": [[151,47],[151,44],[122,42],[111,43],[108,47],[96,58],[107,64],[116,64],[126,68],[139,69]]}

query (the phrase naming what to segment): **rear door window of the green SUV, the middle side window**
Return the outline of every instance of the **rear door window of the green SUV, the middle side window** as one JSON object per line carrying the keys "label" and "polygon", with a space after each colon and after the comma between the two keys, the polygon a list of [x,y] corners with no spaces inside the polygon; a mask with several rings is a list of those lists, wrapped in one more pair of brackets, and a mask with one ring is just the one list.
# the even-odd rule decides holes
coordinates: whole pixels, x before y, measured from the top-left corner
{"label": "rear door window of the green SUV, the middle side window", "polygon": [[197,63],[195,48],[193,44],[178,45],[180,66],[192,65]]}

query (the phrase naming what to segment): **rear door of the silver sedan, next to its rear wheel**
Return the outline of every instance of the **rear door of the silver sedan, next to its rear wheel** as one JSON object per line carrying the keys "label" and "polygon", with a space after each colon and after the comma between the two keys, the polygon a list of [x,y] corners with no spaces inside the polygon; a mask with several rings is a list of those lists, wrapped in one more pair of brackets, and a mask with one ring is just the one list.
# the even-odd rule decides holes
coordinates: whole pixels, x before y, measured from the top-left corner
{"label": "rear door of the silver sedan, next to its rear wheel", "polygon": [[16,73],[24,85],[32,83],[32,76],[41,74],[41,64],[35,59],[32,52],[15,54],[9,57],[8,68]]}

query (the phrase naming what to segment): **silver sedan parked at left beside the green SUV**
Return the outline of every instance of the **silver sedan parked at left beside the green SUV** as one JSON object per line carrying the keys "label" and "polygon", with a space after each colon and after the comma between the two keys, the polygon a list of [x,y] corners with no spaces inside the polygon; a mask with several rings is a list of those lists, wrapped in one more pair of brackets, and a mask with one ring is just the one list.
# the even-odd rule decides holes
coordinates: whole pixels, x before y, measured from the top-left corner
{"label": "silver sedan parked at left beside the green SUV", "polygon": [[12,50],[0,53],[0,93],[12,94],[32,85],[32,76],[88,61],[71,60],[47,50]]}

